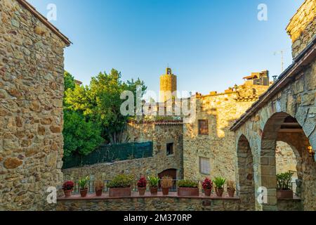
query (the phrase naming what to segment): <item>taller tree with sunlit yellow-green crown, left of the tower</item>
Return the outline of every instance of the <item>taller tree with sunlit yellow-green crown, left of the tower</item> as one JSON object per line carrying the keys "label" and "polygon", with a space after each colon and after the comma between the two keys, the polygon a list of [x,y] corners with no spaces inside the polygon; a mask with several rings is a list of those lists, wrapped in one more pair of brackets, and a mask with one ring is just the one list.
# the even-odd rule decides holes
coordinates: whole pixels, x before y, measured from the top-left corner
{"label": "taller tree with sunlit yellow-green crown, left of the tower", "polygon": [[88,120],[101,126],[101,134],[110,143],[120,143],[122,133],[129,120],[121,115],[120,96],[123,91],[132,91],[136,98],[136,87],[140,85],[142,94],[147,87],[140,79],[122,82],[121,73],[112,69],[109,74],[100,72],[91,79],[90,86],[75,86],[66,91],[65,101],[69,110],[81,112]]}

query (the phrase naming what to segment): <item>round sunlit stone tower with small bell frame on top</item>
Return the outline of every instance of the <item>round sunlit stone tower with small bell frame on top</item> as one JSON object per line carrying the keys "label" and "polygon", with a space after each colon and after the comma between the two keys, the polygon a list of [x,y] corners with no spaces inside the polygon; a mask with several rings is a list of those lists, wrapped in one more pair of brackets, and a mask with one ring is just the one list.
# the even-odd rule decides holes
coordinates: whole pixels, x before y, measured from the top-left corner
{"label": "round sunlit stone tower with small bell frame on top", "polygon": [[177,91],[177,76],[172,74],[171,68],[166,68],[166,74],[160,77],[159,101],[169,101],[171,96],[173,99],[176,98],[175,91]]}

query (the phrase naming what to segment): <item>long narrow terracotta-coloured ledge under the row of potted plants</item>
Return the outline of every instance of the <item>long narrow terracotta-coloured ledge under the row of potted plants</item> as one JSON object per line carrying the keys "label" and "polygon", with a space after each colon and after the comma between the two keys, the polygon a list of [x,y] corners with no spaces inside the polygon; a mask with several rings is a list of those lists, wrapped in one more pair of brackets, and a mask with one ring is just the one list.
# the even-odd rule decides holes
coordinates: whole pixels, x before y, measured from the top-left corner
{"label": "long narrow terracotta-coloured ledge under the row of potted plants", "polygon": [[222,198],[217,197],[212,194],[211,197],[206,197],[204,194],[200,194],[199,196],[178,196],[178,193],[171,192],[169,195],[162,195],[162,192],[158,192],[157,195],[151,195],[149,192],[145,193],[145,195],[140,196],[137,192],[132,192],[131,196],[127,197],[109,197],[108,193],[103,193],[100,197],[96,196],[95,193],[91,193],[86,195],[85,198],[81,198],[80,195],[72,195],[71,197],[60,197],[58,201],[72,201],[72,200],[110,200],[110,199],[126,199],[126,198],[185,198],[185,199],[201,199],[201,200],[240,200],[238,196],[233,198],[228,195],[223,195]]}

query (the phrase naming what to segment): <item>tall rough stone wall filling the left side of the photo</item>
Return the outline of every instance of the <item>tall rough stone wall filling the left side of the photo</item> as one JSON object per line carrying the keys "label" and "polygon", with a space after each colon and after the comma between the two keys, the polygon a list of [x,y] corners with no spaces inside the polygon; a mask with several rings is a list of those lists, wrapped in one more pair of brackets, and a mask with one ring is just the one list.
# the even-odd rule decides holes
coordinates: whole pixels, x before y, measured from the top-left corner
{"label": "tall rough stone wall filling the left side of the photo", "polygon": [[0,1],[0,210],[48,210],[62,181],[63,49],[16,0]]}

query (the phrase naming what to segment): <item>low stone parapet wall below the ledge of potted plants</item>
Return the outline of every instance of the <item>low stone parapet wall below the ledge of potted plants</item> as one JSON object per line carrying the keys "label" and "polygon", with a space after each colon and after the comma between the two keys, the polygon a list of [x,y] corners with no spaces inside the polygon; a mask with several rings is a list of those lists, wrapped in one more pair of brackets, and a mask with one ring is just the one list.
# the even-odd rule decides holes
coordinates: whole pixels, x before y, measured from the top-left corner
{"label": "low stone parapet wall below the ledge of potted plants", "polygon": [[[239,198],[183,198],[174,194],[152,197],[137,196],[127,198],[95,198],[88,195],[58,199],[58,211],[247,211]],[[282,200],[278,203],[279,211],[300,210],[300,200]]]}

